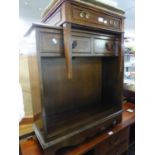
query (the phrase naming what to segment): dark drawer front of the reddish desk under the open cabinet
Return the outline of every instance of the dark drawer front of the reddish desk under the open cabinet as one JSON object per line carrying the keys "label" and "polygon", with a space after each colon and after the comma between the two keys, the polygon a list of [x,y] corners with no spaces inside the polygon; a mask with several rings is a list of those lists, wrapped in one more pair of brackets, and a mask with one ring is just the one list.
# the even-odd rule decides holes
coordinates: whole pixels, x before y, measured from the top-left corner
{"label": "dark drawer front of the reddish desk under the open cabinet", "polygon": [[[121,149],[124,148],[126,149],[128,146],[128,142],[129,142],[129,128],[125,128],[121,130],[119,133],[116,133],[111,137],[109,137],[103,143],[99,144],[96,147],[95,155],[108,155],[108,152],[110,154],[112,150],[119,149],[119,146],[121,146]],[[122,143],[125,145],[124,148],[122,146]]]}

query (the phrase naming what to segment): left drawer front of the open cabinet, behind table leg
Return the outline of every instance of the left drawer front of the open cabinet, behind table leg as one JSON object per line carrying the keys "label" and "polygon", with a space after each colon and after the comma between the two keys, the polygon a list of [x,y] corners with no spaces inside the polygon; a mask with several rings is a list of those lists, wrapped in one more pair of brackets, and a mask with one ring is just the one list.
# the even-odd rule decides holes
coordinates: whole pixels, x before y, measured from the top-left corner
{"label": "left drawer front of the open cabinet, behind table leg", "polygon": [[58,32],[40,32],[41,52],[62,53],[63,39]]}

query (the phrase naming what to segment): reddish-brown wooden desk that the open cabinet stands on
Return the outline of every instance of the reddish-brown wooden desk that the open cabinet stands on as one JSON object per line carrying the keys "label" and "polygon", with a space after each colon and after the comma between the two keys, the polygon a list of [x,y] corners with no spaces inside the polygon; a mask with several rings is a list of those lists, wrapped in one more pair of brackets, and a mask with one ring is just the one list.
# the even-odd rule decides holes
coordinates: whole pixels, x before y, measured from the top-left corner
{"label": "reddish-brown wooden desk that the open cabinet stands on", "polygon": [[[135,123],[135,112],[130,113],[130,112],[127,112],[126,110],[127,109],[134,110],[134,104],[125,103],[123,104],[123,109],[125,111],[123,112],[123,118],[120,124],[114,126],[113,128],[109,129],[104,133],[99,134],[98,136],[95,136],[94,138],[87,140],[86,142],[78,146],[70,147],[68,149],[61,149],[60,151],[57,151],[59,152],[59,154],[57,153],[57,155],[82,155],[82,154],[84,155],[85,153],[89,152],[89,150],[95,149],[96,151],[92,151],[93,152],[92,154],[94,155],[95,152],[101,151],[102,147],[103,148],[105,147],[104,146],[105,143],[108,144],[108,148],[106,149],[110,149],[111,146],[109,146],[109,143],[108,143],[109,141],[111,143],[116,142],[114,143],[114,145],[118,144],[115,147],[113,147],[113,149],[111,149],[111,151],[109,152],[110,155],[113,155],[114,153],[116,154],[116,152],[119,155],[122,153],[122,151],[123,152],[127,151],[127,148],[128,148],[127,143],[129,140],[128,131],[130,127]],[[111,136],[108,135],[109,131],[113,131],[114,134]],[[119,138],[117,139],[117,136],[120,139]],[[116,141],[111,141],[113,138]],[[21,140],[20,145],[21,145],[21,150],[23,155],[30,155],[30,154],[43,155],[44,153],[36,138],[29,139],[29,140]]]}

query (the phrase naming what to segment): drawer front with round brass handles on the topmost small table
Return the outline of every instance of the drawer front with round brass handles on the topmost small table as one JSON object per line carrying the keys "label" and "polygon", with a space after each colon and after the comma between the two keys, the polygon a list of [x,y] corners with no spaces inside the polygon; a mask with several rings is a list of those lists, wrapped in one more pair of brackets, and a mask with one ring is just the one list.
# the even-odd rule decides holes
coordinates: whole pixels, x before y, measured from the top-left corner
{"label": "drawer front with round brass handles on the topmost small table", "polygon": [[96,13],[89,9],[78,8],[76,6],[72,6],[72,19],[74,22],[94,24],[95,27],[97,24],[109,29],[121,29],[121,19],[104,13]]}

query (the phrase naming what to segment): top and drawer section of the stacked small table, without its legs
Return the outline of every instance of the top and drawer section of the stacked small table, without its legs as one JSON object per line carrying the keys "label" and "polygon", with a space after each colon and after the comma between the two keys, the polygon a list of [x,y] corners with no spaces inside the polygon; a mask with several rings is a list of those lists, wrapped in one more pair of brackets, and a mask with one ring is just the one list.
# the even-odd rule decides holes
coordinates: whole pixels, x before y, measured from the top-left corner
{"label": "top and drawer section of the stacked small table, without its legs", "polygon": [[[57,19],[59,22],[55,23],[54,16],[58,12],[60,14]],[[43,16],[42,22],[52,25],[69,22],[121,32],[123,14],[122,10],[107,5],[99,7],[82,1],[61,0],[52,9],[49,9],[49,12]]]}

